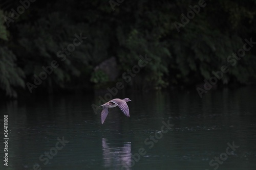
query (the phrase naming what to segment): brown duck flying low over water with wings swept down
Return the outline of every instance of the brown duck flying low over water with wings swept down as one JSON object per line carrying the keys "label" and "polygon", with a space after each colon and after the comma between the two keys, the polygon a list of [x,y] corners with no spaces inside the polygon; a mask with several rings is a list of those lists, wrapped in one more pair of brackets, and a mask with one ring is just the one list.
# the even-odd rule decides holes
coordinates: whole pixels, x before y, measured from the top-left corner
{"label": "brown duck flying low over water with wings swept down", "polygon": [[101,112],[101,124],[104,123],[106,116],[108,116],[109,109],[113,108],[113,107],[117,107],[117,106],[122,110],[122,112],[125,114],[125,116],[130,117],[129,107],[126,104],[126,102],[130,102],[130,101],[131,100],[129,98],[113,99],[113,100],[101,105],[100,107],[102,107],[102,109],[103,109]]}

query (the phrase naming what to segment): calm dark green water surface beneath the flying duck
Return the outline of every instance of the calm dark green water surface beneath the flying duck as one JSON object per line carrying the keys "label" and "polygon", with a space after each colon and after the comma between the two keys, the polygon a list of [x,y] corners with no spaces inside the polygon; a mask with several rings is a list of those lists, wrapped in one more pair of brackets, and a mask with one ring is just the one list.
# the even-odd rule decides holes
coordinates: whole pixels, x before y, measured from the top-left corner
{"label": "calm dark green water surface beneath the flying duck", "polygon": [[91,107],[98,95],[1,104],[0,118],[9,121],[8,167],[1,142],[1,169],[256,169],[254,88],[202,99],[196,90],[117,97],[132,100],[131,117],[113,108],[103,125]]}

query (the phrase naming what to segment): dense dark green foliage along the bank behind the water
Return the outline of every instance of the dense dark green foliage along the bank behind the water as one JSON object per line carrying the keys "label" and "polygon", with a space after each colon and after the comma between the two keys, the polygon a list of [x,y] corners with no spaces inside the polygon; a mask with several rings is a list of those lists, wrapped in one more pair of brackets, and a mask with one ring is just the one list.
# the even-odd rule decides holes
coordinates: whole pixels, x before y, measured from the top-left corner
{"label": "dense dark green foliage along the bank behind the water", "polygon": [[[152,59],[127,84],[133,89],[196,88],[223,65],[218,85],[255,83],[255,0],[21,2],[0,6],[3,95],[106,87],[108,75],[95,67],[113,56],[115,81],[139,56]],[[244,57],[229,57],[246,40]]]}

